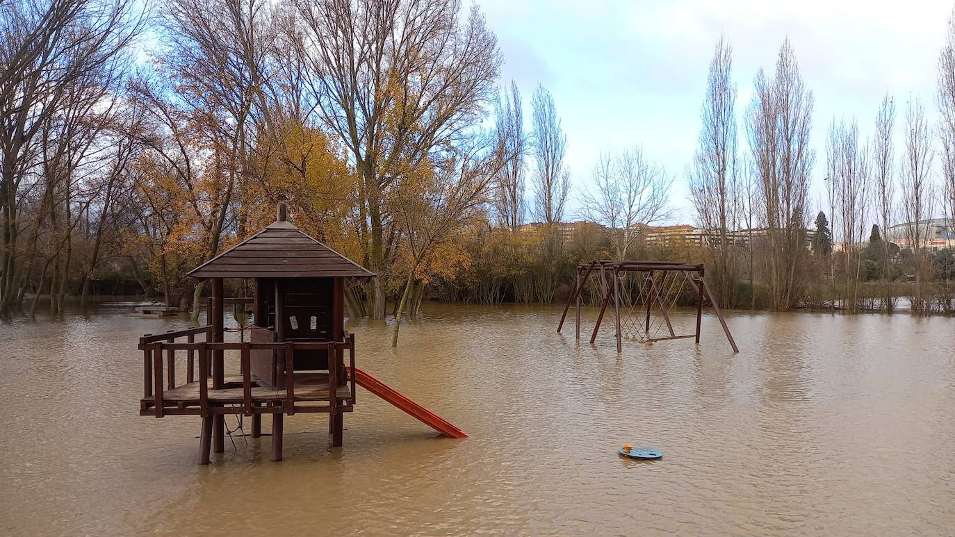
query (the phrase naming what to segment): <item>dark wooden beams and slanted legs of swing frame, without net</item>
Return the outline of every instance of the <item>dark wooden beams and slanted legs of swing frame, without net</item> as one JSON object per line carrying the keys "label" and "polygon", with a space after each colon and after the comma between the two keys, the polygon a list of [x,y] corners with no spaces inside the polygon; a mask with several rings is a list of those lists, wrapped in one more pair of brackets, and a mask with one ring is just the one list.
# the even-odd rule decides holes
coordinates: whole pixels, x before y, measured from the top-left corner
{"label": "dark wooden beams and slanted legs of swing frame, without net", "polygon": [[[732,339],[730,327],[723,318],[723,313],[720,312],[719,305],[716,303],[716,299],[713,298],[712,293],[710,292],[710,286],[707,285],[707,280],[705,278],[706,269],[704,268],[703,263],[682,263],[678,261],[616,261],[611,259],[595,259],[586,263],[581,263],[577,266],[577,279],[576,284],[574,285],[574,290],[567,297],[567,303],[563,306],[561,322],[557,325],[558,334],[561,333],[563,322],[567,318],[567,312],[570,311],[570,304],[574,303],[576,300],[576,339],[580,341],[581,294],[584,291],[584,285],[586,285],[587,279],[590,278],[591,274],[598,271],[600,273],[600,280],[603,284],[605,296],[601,301],[600,314],[597,316],[597,322],[594,324],[593,333],[590,335],[590,343],[593,343],[597,340],[597,332],[600,330],[601,322],[604,320],[606,308],[612,300],[614,327],[616,330],[617,339],[617,353],[620,354],[623,352],[624,337],[620,320],[620,277],[622,275],[626,276],[627,272],[646,272],[647,279],[649,279],[650,282],[650,289],[647,292],[647,336],[649,336],[650,311],[653,303],[657,304],[661,313],[663,314],[663,318],[667,323],[669,336],[664,338],[648,338],[645,341],[682,340],[694,338],[696,344],[700,344],[700,325],[703,320],[703,301],[704,299],[707,299],[710,301],[713,312],[716,314],[716,318],[723,326],[723,332],[726,334],[727,340],[730,341],[732,352],[739,352],[739,348],[736,347],[736,341],[733,341]],[[693,290],[696,292],[696,332],[694,334],[677,336],[673,332],[673,325],[669,321],[666,304],[664,303],[664,299],[660,296],[659,290],[655,288],[653,282],[653,275],[657,272],[682,273],[686,277],[686,280],[690,282],[690,286],[692,286]],[[694,276],[696,278],[695,280]],[[608,277],[611,281],[613,281],[612,285],[607,284]],[[666,276],[664,278],[666,279]]]}

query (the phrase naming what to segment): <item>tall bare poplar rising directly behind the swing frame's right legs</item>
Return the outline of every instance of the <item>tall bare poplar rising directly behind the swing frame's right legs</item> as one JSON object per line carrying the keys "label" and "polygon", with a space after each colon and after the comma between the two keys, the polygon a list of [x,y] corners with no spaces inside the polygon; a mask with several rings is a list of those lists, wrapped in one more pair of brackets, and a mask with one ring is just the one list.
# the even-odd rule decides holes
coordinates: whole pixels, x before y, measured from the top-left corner
{"label": "tall bare poplar rising directly behind the swing frame's right legs", "polygon": [[690,195],[696,217],[708,234],[715,235],[716,294],[721,302],[735,303],[736,268],[730,233],[736,222],[739,186],[736,176],[736,86],[732,83],[732,46],[720,36],[713,52],[707,95],[700,117],[699,145],[690,168]]}

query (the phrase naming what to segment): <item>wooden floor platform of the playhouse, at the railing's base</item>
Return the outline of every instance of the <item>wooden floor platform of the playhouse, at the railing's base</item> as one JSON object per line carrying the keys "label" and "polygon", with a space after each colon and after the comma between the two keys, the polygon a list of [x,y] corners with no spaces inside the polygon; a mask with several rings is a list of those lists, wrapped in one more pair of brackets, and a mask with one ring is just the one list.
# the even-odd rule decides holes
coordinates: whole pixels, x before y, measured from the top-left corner
{"label": "wooden floor platform of the playhouse, at the railing's base", "polygon": [[[329,401],[329,375],[326,373],[302,374],[296,373],[294,376],[294,396],[292,400],[295,403],[322,402]],[[215,389],[212,387],[212,379],[206,380],[206,394],[210,403],[223,405],[224,413],[241,413],[241,408],[230,409],[228,404],[242,405],[245,403],[245,394],[243,389],[243,377],[234,375],[225,377],[223,387]],[[187,382],[175,388],[165,390],[162,393],[163,414],[201,414],[200,407],[202,396],[200,394],[200,382]],[[250,402],[257,407],[252,409],[253,413],[267,414],[274,412],[274,409],[267,407],[270,403],[286,403],[288,391],[285,388],[273,389],[260,385],[260,382],[253,380],[250,390]],[[351,391],[349,386],[338,386],[335,390],[335,396],[338,404],[342,405],[342,410],[350,411]],[[156,400],[153,396],[144,397],[140,400],[139,415],[155,415]],[[296,412],[327,412],[323,406],[297,405]]]}

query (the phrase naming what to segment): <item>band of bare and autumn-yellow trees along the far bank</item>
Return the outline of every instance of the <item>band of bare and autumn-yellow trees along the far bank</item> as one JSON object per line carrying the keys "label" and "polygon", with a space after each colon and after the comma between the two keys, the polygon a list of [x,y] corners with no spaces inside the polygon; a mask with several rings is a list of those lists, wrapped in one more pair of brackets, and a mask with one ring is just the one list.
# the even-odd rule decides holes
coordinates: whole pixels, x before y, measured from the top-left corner
{"label": "band of bare and autumn-yellow trees along the far bank", "polygon": [[[592,258],[704,262],[727,307],[953,310],[950,242],[929,239],[938,215],[955,238],[952,23],[937,125],[922,97],[897,114],[886,95],[871,138],[869,118],[838,117],[810,140],[819,118],[789,40],[738,102],[722,37],[682,174],[640,140],[585,173],[566,165],[554,96],[538,86],[528,105],[499,80],[494,32],[459,1],[143,6],[0,3],[0,313],[142,294],[196,315],[207,290],[185,273],[280,200],[379,275],[350,286],[354,316],[556,302]],[[660,227],[674,180],[690,187],[692,233]]]}

